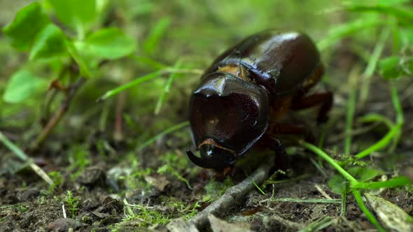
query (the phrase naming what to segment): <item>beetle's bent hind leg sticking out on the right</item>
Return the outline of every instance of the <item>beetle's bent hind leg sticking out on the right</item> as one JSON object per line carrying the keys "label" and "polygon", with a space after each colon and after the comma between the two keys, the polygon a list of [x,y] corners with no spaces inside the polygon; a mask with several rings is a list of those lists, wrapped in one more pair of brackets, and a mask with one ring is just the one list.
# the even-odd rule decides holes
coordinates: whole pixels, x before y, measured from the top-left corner
{"label": "beetle's bent hind leg sticking out on the right", "polygon": [[292,110],[302,110],[312,106],[321,105],[318,110],[317,122],[323,123],[328,119],[328,112],[332,107],[332,92],[323,92],[304,96],[302,98],[294,99],[291,103]]}

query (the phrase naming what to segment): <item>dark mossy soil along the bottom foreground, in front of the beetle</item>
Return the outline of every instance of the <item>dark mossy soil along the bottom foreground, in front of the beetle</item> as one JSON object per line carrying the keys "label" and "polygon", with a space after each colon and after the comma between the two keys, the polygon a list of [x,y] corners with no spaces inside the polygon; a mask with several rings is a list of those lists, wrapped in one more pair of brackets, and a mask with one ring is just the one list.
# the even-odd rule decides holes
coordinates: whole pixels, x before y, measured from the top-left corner
{"label": "dark mossy soil along the bottom foreground, in front of the beetle", "polygon": [[[7,163],[6,159],[14,159],[10,157],[10,153],[6,154],[8,156],[1,158],[2,164]],[[298,150],[296,156],[291,166],[291,175],[303,173],[310,175],[297,182],[269,185],[265,191],[268,194],[274,192],[272,198],[325,198],[321,191],[316,189],[315,184],[323,189],[324,194],[331,198],[339,198],[338,194],[334,194],[325,185],[328,177],[323,177],[314,166],[307,165],[308,157],[306,156],[309,154]],[[135,231],[137,226],[142,226],[143,223],[125,219],[123,197],[127,198],[128,203],[144,205],[163,215],[169,215],[169,219],[172,219],[178,215],[173,208],[168,208],[164,201],[165,198],[174,197],[176,201],[184,201],[191,205],[205,193],[204,186],[210,177],[202,177],[204,171],[198,172],[193,179],[189,180],[190,185],[193,186],[191,190],[174,176],[154,173],[144,177],[144,182],[150,183],[150,188],[128,189],[127,183],[113,177],[113,173],[116,173],[113,167],[119,168],[119,164],[104,162],[102,157],[92,156],[92,158],[90,166],[85,168],[78,177],[71,178],[71,173],[65,168],[66,162],[62,162],[62,166],[59,166],[55,161],[50,161],[48,157],[48,162],[45,162],[48,164],[43,168],[47,170],[51,168],[50,163],[53,163],[52,169],[62,170],[65,173],[62,183],[52,190],[28,168],[22,168],[13,174],[3,173],[0,178],[0,231],[67,231],[69,228],[75,231],[111,231],[113,229]],[[57,160],[64,159],[59,157]],[[38,161],[42,161],[41,157],[38,157]],[[2,168],[5,168],[4,165]],[[121,172],[126,172],[123,175],[127,175],[127,170]],[[243,177],[240,173],[237,175],[239,177],[234,177],[235,184],[237,178]],[[331,170],[328,173],[328,176],[330,175],[332,175]],[[78,205],[73,215],[71,215],[69,205],[64,201],[68,190],[78,198]],[[123,194],[120,194],[122,192]],[[413,194],[411,192],[405,189],[386,189],[379,196],[395,203],[409,215],[413,215]],[[341,210],[339,203],[271,202],[268,199],[269,196],[253,191],[246,196],[246,201],[241,208],[232,210],[224,218],[228,222],[246,222],[251,225],[251,229],[256,231],[295,231],[274,219],[274,215],[304,225],[326,215],[337,217]],[[64,218],[62,205],[65,206],[67,218]],[[202,208],[207,205],[208,203],[203,203]],[[145,224],[144,226],[165,231],[165,224]],[[358,231],[374,229],[374,226],[367,221],[353,197],[349,195],[345,219],[337,219],[337,222],[329,228],[328,231]]]}

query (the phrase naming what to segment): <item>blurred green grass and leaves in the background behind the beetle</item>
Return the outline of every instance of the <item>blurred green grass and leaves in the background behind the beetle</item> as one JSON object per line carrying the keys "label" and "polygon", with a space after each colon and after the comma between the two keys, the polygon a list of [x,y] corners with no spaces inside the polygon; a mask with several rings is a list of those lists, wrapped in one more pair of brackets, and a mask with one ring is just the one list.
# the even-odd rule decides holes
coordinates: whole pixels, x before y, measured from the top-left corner
{"label": "blurred green grass and leaves in the background behind the beetle", "polygon": [[[349,66],[353,65],[365,66],[354,94],[360,91],[369,96],[370,79],[376,75],[391,81],[393,87],[398,79],[413,76],[413,6],[407,0],[22,2],[25,7],[15,10],[14,20],[8,18],[8,24],[0,21],[0,129],[25,131],[18,140],[25,145],[41,130],[37,122],[45,113],[43,104],[50,93],[47,83],[59,80],[68,87],[79,78],[88,78],[73,100],[68,117],[55,131],[57,141],[48,147],[56,151],[64,147],[62,144],[69,144],[71,148],[65,154],[73,177],[90,164],[92,145],[88,139],[98,132],[115,131],[117,106],[122,105],[125,150],[153,153],[151,157],[162,163],[145,169],[142,161],[137,161],[140,158],[132,154],[135,163],[129,165],[136,173],[129,181],[143,181],[142,176],[158,170],[190,187],[189,178],[198,169],[188,170],[188,160],[173,152],[190,144],[188,131],[176,131],[187,125],[183,121],[187,118],[188,96],[202,70],[220,52],[264,29],[294,29],[309,34],[323,55],[323,82],[337,94],[349,91],[345,83]],[[2,10],[8,9],[1,6]],[[73,65],[80,75],[76,70],[73,73]],[[397,96],[394,92],[393,99]],[[105,101],[96,103],[99,97]],[[57,96],[50,108],[59,108],[62,99],[64,94]],[[389,126],[390,131],[396,130],[392,140],[398,140],[402,126],[402,111],[395,111],[396,122]],[[176,134],[169,138],[172,131]],[[102,137],[96,142],[99,154],[114,154],[106,143],[111,138]],[[79,141],[85,144],[78,145]],[[158,154],[159,150],[167,152]],[[351,153],[351,144],[348,150]],[[344,168],[360,182],[380,173],[368,164]],[[213,201],[230,185],[230,180],[211,180],[202,201]],[[349,189],[341,175],[334,175],[329,186],[339,194]],[[130,218],[146,217],[148,222],[162,224],[169,219],[141,205],[139,213],[129,209]]]}

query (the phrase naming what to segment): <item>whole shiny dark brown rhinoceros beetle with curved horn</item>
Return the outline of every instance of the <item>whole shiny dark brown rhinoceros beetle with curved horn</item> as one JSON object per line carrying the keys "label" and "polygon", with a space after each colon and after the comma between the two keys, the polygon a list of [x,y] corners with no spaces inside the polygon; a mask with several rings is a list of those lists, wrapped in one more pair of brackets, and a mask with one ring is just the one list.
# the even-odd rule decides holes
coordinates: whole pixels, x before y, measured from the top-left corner
{"label": "whole shiny dark brown rhinoceros beetle with curved horn", "polygon": [[228,172],[265,138],[284,150],[276,134],[304,133],[302,126],[277,122],[290,110],[321,105],[318,122],[327,119],[332,93],[307,95],[322,75],[319,52],[306,34],[267,30],[245,38],[207,68],[190,97],[190,127],[201,157],[187,150],[189,159]]}

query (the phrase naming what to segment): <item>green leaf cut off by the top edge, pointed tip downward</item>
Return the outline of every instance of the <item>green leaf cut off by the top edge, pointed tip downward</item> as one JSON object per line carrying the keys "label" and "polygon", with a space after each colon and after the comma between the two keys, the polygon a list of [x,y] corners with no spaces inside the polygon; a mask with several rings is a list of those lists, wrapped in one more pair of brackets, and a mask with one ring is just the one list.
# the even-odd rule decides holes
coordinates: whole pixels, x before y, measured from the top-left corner
{"label": "green leaf cut off by the top edge, pointed tip downward", "polygon": [[47,0],[56,16],[64,24],[77,29],[81,34],[85,27],[96,18],[95,0]]}

